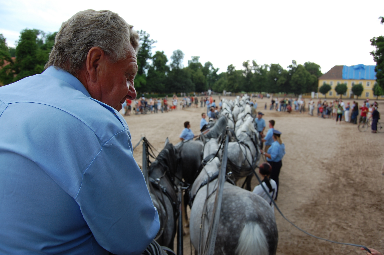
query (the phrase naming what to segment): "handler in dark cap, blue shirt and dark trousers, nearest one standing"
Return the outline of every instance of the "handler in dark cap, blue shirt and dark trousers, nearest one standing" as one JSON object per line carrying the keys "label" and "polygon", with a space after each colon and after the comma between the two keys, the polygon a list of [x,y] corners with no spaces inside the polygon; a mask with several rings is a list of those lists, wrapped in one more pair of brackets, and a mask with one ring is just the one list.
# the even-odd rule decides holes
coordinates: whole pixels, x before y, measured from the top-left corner
{"label": "handler in dark cap, blue shirt and dark trousers, nearest one standing", "polygon": [[273,136],[272,136],[273,143],[268,149],[268,152],[260,150],[261,153],[263,153],[263,155],[266,157],[266,160],[268,161],[268,163],[270,163],[272,167],[270,178],[275,180],[277,185],[275,200],[277,199],[278,192],[279,192],[279,174],[282,166],[281,160],[285,155],[285,145],[281,141],[280,135],[281,135],[280,131],[276,129],[273,130]]}

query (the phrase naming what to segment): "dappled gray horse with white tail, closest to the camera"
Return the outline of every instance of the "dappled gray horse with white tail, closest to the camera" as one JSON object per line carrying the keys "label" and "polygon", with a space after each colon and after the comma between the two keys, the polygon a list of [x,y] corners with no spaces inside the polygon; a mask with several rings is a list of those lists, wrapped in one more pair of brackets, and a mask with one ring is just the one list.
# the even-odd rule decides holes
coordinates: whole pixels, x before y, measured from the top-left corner
{"label": "dappled gray horse with white tail, closest to the camera", "polygon": [[[204,156],[216,155],[214,139]],[[229,148],[228,148],[229,152]],[[204,166],[191,189],[190,238],[195,250],[204,249],[214,209],[220,160]],[[204,216],[203,216],[204,215]],[[271,206],[257,194],[225,182],[214,254],[274,255],[278,232]]]}

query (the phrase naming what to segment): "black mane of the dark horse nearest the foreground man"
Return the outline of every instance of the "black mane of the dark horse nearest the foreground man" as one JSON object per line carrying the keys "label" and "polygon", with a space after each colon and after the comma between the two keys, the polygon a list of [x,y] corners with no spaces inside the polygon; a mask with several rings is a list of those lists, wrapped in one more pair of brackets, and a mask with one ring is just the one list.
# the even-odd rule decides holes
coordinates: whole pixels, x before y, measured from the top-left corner
{"label": "black mane of the dark horse nearest the foreground man", "polygon": [[157,155],[156,160],[151,163],[151,166],[149,166],[149,175],[151,175],[152,171],[158,166],[161,166],[164,171],[166,170],[164,168],[168,167],[169,171],[176,173],[177,155],[172,143],[167,143],[164,149]]}

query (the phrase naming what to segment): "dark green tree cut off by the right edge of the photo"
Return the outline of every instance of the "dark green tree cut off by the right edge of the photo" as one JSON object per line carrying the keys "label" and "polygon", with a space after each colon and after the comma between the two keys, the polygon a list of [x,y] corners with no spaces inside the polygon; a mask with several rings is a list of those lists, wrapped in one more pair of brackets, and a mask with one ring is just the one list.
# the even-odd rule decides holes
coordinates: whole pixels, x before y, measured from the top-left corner
{"label": "dark green tree cut off by the right edge of the photo", "polygon": [[[379,19],[381,19],[380,23],[384,24],[384,17],[380,16]],[[384,89],[384,36],[374,37],[370,41],[371,45],[376,48],[375,51],[371,51],[371,55],[376,62],[376,81]]]}

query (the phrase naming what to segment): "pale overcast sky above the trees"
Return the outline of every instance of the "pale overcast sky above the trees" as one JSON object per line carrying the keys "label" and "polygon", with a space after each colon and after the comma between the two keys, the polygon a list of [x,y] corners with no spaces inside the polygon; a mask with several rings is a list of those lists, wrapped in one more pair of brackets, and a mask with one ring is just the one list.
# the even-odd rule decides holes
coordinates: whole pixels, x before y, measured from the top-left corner
{"label": "pale overcast sky above the trees", "polygon": [[219,72],[243,61],[280,64],[293,59],[321,66],[375,65],[369,39],[384,35],[384,1],[51,1],[0,0],[0,33],[15,46],[25,28],[58,31],[86,9],[111,10],[157,41],[155,51],[184,52],[210,61]]}

